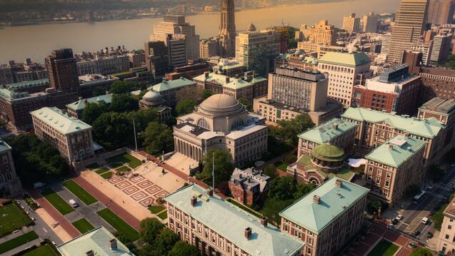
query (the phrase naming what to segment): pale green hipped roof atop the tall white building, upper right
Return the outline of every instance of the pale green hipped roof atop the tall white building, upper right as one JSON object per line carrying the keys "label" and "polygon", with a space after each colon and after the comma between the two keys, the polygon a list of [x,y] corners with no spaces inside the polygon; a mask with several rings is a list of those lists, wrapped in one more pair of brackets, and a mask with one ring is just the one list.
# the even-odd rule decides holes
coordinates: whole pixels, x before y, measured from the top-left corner
{"label": "pale green hipped roof atop the tall white building, upper right", "polygon": [[341,53],[336,51],[329,51],[319,59],[319,63],[328,63],[343,66],[361,66],[370,63],[371,60],[363,51],[355,53]]}

